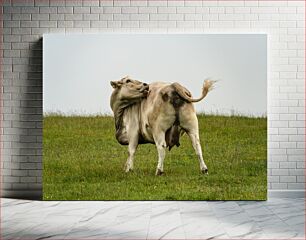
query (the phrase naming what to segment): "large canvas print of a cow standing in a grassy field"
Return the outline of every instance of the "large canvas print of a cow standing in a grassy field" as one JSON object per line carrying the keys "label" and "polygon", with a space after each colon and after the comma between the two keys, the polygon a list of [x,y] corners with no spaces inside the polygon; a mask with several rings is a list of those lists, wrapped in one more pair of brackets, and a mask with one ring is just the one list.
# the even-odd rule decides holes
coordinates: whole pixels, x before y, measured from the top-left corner
{"label": "large canvas print of a cow standing in a grassy field", "polygon": [[46,34],[45,200],[265,200],[265,34]]}

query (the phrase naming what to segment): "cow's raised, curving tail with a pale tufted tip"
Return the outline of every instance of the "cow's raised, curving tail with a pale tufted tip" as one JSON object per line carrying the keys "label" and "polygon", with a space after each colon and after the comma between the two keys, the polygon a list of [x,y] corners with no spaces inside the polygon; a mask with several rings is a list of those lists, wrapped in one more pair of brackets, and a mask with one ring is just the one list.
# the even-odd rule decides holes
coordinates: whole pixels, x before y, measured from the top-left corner
{"label": "cow's raised, curving tail with a pale tufted tip", "polygon": [[199,102],[203,98],[205,98],[207,93],[213,89],[215,82],[216,81],[206,79],[203,84],[202,95],[199,98],[192,98],[191,93],[179,83],[173,83],[172,86],[174,87],[178,95],[180,95],[180,97],[182,97],[185,101],[191,103],[191,102]]}

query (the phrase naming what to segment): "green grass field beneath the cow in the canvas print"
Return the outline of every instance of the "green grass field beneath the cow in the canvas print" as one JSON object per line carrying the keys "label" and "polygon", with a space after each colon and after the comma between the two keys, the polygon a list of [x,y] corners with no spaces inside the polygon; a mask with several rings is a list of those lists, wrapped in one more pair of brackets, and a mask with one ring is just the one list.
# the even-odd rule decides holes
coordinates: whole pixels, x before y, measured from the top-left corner
{"label": "green grass field beneath the cow in the canvas print", "polygon": [[45,200],[265,200],[267,119],[198,116],[202,175],[187,135],[167,151],[155,176],[155,145],[140,145],[125,173],[127,147],[117,143],[112,117],[44,117]]}

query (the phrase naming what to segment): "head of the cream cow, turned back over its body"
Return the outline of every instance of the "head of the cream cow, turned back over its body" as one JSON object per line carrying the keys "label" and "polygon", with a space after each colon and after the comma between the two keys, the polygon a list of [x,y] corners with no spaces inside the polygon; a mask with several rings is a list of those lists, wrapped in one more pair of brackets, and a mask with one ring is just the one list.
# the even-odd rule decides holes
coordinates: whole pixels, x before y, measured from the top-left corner
{"label": "head of the cream cow, turned back over its body", "polygon": [[137,101],[147,97],[149,85],[137,80],[131,79],[129,76],[119,81],[111,81],[110,84],[114,88],[118,100],[121,101]]}

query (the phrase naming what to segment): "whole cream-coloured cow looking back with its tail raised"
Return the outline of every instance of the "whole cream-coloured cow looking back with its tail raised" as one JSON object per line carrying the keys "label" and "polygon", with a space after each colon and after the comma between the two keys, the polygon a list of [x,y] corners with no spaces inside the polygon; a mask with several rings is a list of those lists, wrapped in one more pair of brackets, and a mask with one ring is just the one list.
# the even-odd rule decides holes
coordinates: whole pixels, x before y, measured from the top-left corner
{"label": "whole cream-coloured cow looking back with its tail raised", "polygon": [[193,103],[205,98],[214,81],[204,81],[202,95],[197,99],[192,98],[191,93],[179,83],[147,84],[127,76],[110,84],[113,87],[110,106],[115,118],[116,139],[121,145],[128,145],[126,172],[133,170],[138,144],[152,143],[158,151],[156,175],[162,175],[165,149],[180,146],[180,136],[187,133],[201,172],[208,174]]}

